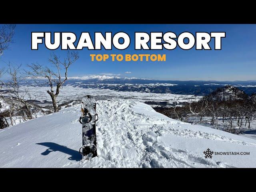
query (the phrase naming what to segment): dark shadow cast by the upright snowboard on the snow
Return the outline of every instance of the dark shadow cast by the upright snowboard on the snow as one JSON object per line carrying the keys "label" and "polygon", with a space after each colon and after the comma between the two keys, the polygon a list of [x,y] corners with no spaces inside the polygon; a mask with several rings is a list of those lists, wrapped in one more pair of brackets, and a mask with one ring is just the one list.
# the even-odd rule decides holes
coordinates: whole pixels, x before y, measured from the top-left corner
{"label": "dark shadow cast by the upright snowboard on the snow", "polygon": [[68,158],[69,160],[80,161],[82,158],[81,154],[78,151],[67,148],[66,146],[63,146],[63,145],[59,145],[52,142],[36,143],[36,144],[49,147],[48,149],[46,149],[44,152],[41,153],[42,155],[48,155],[50,152],[53,152],[53,151],[60,151],[62,153],[71,155],[71,157]]}

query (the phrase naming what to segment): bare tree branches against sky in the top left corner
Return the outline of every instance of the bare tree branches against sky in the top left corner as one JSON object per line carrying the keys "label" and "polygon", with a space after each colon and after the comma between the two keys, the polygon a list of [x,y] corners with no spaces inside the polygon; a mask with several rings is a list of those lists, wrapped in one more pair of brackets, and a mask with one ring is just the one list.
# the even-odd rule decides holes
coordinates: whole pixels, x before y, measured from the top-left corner
{"label": "bare tree branches against sky in the top left corner", "polygon": [[14,29],[14,24],[3,25],[0,27],[0,56],[4,54],[4,50],[8,49],[9,44],[13,42]]}

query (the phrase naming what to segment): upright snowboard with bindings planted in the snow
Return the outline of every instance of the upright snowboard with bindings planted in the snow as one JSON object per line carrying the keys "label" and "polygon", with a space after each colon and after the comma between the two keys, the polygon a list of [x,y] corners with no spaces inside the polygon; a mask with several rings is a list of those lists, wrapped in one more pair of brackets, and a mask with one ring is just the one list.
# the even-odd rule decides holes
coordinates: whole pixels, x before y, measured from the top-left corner
{"label": "upright snowboard with bindings planted in the snow", "polygon": [[[82,116],[79,122],[82,124],[82,147],[79,152],[82,158],[97,156],[96,147],[96,101],[93,96],[87,95],[82,98],[81,103]],[[97,119],[96,119],[97,116]]]}

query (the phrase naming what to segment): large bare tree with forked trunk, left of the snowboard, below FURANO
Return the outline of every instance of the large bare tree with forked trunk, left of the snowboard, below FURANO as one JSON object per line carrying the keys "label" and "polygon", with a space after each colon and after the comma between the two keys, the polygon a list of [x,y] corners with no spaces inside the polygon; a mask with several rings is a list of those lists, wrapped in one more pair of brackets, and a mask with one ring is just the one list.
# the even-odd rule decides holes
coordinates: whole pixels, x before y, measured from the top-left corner
{"label": "large bare tree with forked trunk, left of the snowboard, below FURANO", "polygon": [[[37,80],[37,84],[41,84],[40,79],[42,77],[46,78],[44,81],[50,87],[50,90],[47,90],[47,93],[52,98],[52,104],[54,107],[54,112],[58,112],[59,108],[57,105],[57,97],[60,93],[60,88],[68,79],[68,68],[71,64],[73,64],[76,60],[78,60],[78,52],[69,52],[67,57],[64,60],[60,60],[60,58],[56,54],[51,54],[49,58],[50,64],[53,64],[54,68],[50,69],[46,66],[42,66],[40,64],[31,64],[28,65],[30,71],[27,72],[28,76],[34,80]],[[64,77],[62,77],[62,72],[64,73]],[[39,81],[38,81],[39,80]],[[54,86],[56,86],[56,90],[54,92]]]}

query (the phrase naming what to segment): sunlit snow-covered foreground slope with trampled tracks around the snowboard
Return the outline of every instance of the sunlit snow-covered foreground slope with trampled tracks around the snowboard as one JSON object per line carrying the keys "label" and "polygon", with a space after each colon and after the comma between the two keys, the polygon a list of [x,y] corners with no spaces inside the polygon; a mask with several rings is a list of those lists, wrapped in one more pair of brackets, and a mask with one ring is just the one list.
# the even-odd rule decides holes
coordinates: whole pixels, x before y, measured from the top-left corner
{"label": "sunlit snow-covered foreground slope with trampled tracks around the snowboard", "polygon": [[[132,100],[100,100],[98,157],[80,161],[80,106],[0,130],[0,167],[256,167],[256,140],[170,119]],[[250,152],[250,155],[214,155]]]}

